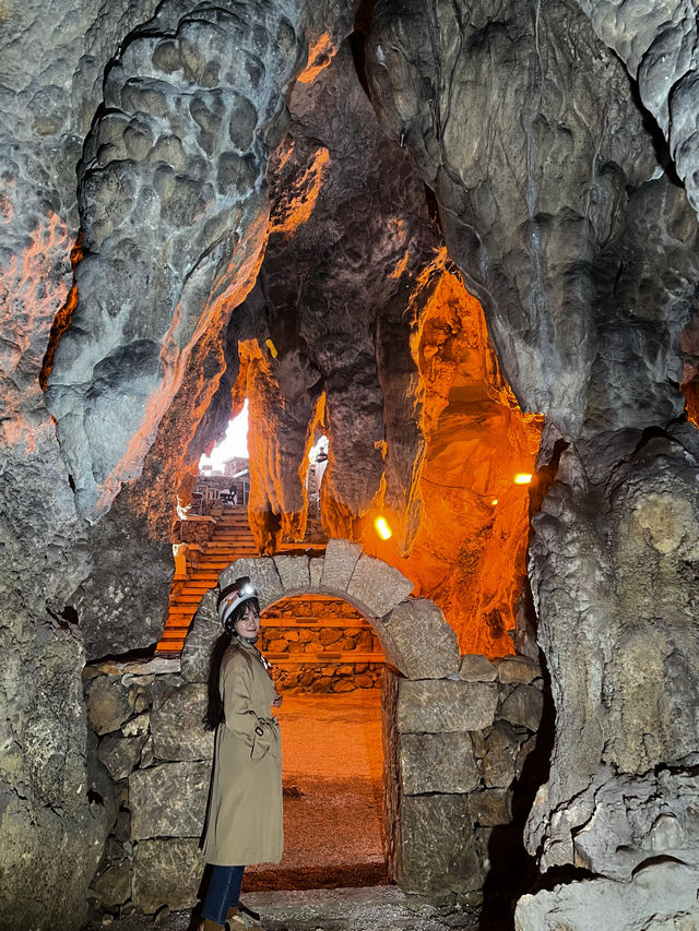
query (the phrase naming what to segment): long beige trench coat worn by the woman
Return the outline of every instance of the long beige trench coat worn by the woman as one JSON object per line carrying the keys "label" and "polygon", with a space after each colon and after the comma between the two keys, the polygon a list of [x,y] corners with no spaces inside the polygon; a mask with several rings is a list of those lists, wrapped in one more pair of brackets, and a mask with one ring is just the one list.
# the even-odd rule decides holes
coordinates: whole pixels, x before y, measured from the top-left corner
{"label": "long beige trench coat worn by the woman", "polygon": [[279,863],[282,741],[270,717],[274,685],[253,646],[234,637],[221,663],[218,725],[203,851],[208,863]]}

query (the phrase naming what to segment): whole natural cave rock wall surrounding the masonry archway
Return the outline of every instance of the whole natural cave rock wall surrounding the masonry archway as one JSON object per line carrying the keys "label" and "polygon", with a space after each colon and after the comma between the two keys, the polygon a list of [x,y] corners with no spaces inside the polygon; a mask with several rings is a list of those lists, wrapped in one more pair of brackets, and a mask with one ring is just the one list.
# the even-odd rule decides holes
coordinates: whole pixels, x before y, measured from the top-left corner
{"label": "whole natural cave rock wall surrounding the masonry archway", "polygon": [[[650,854],[694,875],[699,451],[679,384],[696,398],[696,10],[379,0],[366,49],[375,118],[350,67],[356,45],[333,59],[354,5],[2,4],[9,928],[80,921],[115,812],[85,738],[79,670],[85,650],[156,635],[174,497],[232,391],[239,399],[241,338],[259,350],[268,421],[294,428],[283,443],[253,440],[274,463],[256,486],[260,542],[276,524],[300,534],[300,466],[322,422],[327,525],[367,539],[371,508],[386,506],[391,559],[434,552],[424,515],[437,534],[442,500],[420,482],[443,470],[459,392],[476,390],[462,370],[420,374],[412,339],[429,320],[419,295],[436,289],[420,275],[443,241],[497,353],[501,375],[486,365],[477,387],[500,405],[496,432],[531,459],[526,417],[547,418],[538,465],[550,488],[530,576],[557,736],[528,843],[543,867],[587,866],[621,888],[639,867],[653,887]],[[304,262],[315,277],[279,271]],[[446,327],[440,365],[459,347],[464,368],[478,354],[483,365],[483,346],[466,361],[473,325]],[[276,359],[263,355],[268,337]],[[498,395],[501,379],[519,407]],[[295,391],[303,417],[284,410]],[[467,503],[473,488],[460,489]],[[522,501],[508,506],[524,520]],[[516,561],[522,544],[507,542]],[[514,568],[512,593],[519,578]],[[488,617],[500,589],[477,584]],[[481,648],[506,634],[490,631]],[[644,817],[608,816],[624,792]],[[589,884],[582,896],[596,894]],[[541,927],[537,907],[528,903],[522,927]]]}

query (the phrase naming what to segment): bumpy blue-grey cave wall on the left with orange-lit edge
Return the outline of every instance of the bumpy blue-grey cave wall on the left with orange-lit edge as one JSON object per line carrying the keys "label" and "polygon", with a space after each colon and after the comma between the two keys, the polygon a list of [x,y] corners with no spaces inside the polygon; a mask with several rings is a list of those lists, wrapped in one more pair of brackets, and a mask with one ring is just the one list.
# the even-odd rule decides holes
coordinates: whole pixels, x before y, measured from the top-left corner
{"label": "bumpy blue-grey cave wall on the left with orange-lit edge", "polygon": [[[167,540],[149,536],[146,515],[134,521],[125,504],[126,526],[118,511],[102,529],[88,522],[140,474],[182,383],[194,395],[201,386],[196,372],[187,387],[201,338],[218,345],[204,390],[215,394],[227,317],[261,258],[265,159],[283,132],[284,89],[309,47],[311,64],[312,49],[332,53],[353,19],[339,3],[165,3],[144,29],[155,8],[9,0],[0,11],[0,923],[9,929],[82,922],[116,816],[86,738],[85,645],[92,655],[133,646],[129,631],[151,644],[157,599],[167,597],[167,571],[158,572],[144,616],[139,560],[154,574],[165,568]],[[261,57],[246,59],[250,43]],[[204,73],[203,55],[218,73]],[[217,109],[226,67],[242,69],[227,106],[247,112],[232,127],[245,139],[228,139],[230,114]],[[222,157],[209,177],[216,132]],[[240,195],[246,179],[257,186]],[[176,228],[186,229],[178,237]],[[94,565],[120,537],[134,584],[121,578],[110,592],[120,566]],[[120,597],[115,626],[100,608],[110,598],[114,618]],[[66,611],[71,599],[91,618],[84,636],[80,612],[75,629]]]}

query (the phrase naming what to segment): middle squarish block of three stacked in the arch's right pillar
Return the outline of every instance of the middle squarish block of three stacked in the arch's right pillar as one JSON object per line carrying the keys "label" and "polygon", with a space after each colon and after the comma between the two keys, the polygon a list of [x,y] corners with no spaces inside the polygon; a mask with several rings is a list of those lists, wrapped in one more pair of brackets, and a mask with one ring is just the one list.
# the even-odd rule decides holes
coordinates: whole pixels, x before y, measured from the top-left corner
{"label": "middle squarish block of three stacked in the arch's right pillar", "polygon": [[400,759],[406,795],[470,792],[481,781],[467,733],[404,733]]}

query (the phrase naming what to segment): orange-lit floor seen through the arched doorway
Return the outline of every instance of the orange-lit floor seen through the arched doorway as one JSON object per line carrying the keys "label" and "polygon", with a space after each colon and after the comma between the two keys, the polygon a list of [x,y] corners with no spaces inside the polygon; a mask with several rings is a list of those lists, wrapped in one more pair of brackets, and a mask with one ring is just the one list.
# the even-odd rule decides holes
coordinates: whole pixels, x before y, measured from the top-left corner
{"label": "orange-lit floor seen through the arched doorway", "polygon": [[380,714],[378,689],[284,697],[284,857],[244,892],[386,882]]}

